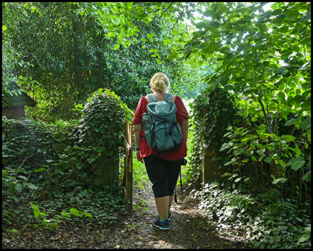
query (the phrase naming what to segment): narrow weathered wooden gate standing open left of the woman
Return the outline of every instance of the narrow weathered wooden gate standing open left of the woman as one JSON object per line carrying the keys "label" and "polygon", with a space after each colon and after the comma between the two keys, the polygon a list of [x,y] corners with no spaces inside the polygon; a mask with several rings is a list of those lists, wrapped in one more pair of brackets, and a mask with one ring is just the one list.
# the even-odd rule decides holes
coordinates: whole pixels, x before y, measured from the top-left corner
{"label": "narrow weathered wooden gate standing open left of the woman", "polygon": [[131,215],[133,208],[133,127],[126,121],[126,156],[124,161],[124,183],[126,210]]}

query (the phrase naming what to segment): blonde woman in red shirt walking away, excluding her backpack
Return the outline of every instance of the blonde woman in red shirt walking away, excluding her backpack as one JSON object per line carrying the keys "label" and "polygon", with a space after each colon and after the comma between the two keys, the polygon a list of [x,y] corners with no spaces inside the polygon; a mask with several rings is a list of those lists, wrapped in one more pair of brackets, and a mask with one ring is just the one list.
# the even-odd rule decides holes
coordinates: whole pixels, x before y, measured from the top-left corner
{"label": "blonde woman in red shirt walking away, excluding her backpack", "polygon": [[[163,73],[156,73],[150,82],[153,96],[157,101],[161,101],[166,96],[169,89],[168,77]],[[179,149],[170,153],[157,153],[152,149],[145,139],[143,130],[143,114],[147,113],[149,98],[142,97],[138,102],[135,116],[132,121],[134,124],[134,135],[136,144],[136,155],[140,162],[145,163],[147,174],[152,182],[155,202],[159,217],[153,225],[161,230],[169,230],[169,220],[171,217],[170,206],[174,195],[175,186],[182,166],[182,160],[187,155],[186,141],[188,137],[188,112],[179,96],[172,96],[170,101],[174,102],[177,108],[176,121],[182,128],[182,145]]]}

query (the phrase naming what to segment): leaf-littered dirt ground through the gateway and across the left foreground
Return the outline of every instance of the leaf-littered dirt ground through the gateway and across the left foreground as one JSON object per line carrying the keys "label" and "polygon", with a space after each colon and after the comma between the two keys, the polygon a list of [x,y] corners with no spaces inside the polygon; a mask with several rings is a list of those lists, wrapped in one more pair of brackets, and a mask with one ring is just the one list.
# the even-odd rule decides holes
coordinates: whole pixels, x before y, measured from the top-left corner
{"label": "leaf-littered dirt ground through the gateway and across the left foreground", "polygon": [[[161,231],[152,225],[157,217],[151,184],[134,189],[132,216],[122,215],[107,227],[95,225],[60,225],[56,231],[25,226],[18,234],[2,234],[2,248],[76,248],[76,249],[136,249],[136,248],[249,248],[240,238],[230,240],[227,234],[216,231],[215,222],[209,222],[198,210],[195,199],[171,208],[170,231]],[[179,189],[180,190],[180,189]],[[184,194],[186,196],[186,193]],[[224,233],[225,234],[225,233]],[[239,236],[240,237],[240,236]],[[239,241],[238,241],[239,240]]]}

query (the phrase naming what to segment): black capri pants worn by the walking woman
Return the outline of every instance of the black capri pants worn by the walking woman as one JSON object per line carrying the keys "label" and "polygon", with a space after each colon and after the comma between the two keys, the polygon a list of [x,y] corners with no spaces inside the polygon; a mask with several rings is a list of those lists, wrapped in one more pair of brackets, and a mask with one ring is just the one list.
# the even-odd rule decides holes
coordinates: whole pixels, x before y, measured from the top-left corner
{"label": "black capri pants worn by the walking woman", "polygon": [[164,160],[159,155],[143,158],[145,169],[152,182],[154,197],[174,195],[182,160]]}

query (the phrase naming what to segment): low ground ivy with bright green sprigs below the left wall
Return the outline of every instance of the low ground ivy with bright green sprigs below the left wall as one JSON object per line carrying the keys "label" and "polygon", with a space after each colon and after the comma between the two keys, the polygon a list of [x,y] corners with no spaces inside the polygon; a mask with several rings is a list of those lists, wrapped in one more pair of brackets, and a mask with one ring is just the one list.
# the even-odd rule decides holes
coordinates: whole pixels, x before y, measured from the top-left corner
{"label": "low ground ivy with bright green sprigs below the left wall", "polygon": [[24,231],[29,225],[54,230],[76,223],[101,227],[116,222],[125,212],[124,193],[118,183],[104,191],[77,188],[75,192],[49,195],[45,189],[23,190],[6,197],[2,205],[2,230]]}

